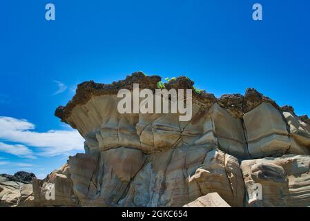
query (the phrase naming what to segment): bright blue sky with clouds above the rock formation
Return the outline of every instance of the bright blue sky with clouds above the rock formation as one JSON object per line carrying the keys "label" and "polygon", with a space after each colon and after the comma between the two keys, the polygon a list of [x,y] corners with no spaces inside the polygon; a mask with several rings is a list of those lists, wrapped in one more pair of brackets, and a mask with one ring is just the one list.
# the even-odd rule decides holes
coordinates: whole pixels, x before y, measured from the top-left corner
{"label": "bright blue sky with clouds above the rock formation", "polygon": [[[254,3],[263,21],[253,21]],[[307,0],[1,2],[0,173],[43,177],[83,152],[55,108],[81,81],[137,70],[186,75],[216,96],[254,87],[310,115],[309,10]]]}

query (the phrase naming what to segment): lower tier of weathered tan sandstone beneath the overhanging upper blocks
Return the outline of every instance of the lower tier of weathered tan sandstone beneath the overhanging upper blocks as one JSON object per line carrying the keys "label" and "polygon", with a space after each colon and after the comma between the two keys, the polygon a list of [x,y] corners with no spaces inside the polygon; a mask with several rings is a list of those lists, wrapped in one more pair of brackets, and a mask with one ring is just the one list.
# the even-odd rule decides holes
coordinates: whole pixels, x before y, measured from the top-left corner
{"label": "lower tier of weathered tan sandstone beneath the overhanging upper blocks", "polygon": [[[64,167],[70,178],[62,180],[70,180],[68,183],[57,180],[67,172],[64,168],[39,183],[39,189],[34,182],[44,206],[60,206],[59,202],[66,206],[183,206],[213,191],[233,206],[242,206],[244,200],[238,160],[207,146],[184,146],[154,155],[112,148],[97,155],[70,157]],[[50,182],[55,190],[60,189],[56,191],[58,200],[44,198],[45,185]]]}

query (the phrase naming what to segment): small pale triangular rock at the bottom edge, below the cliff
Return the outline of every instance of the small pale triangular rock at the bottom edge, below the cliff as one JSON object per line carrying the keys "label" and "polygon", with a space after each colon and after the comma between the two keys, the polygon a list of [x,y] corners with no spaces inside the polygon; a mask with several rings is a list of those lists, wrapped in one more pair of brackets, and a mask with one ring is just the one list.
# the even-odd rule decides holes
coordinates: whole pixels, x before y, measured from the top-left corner
{"label": "small pale triangular rock at the bottom edge, below the cliff", "polygon": [[217,193],[208,193],[183,207],[231,207]]}

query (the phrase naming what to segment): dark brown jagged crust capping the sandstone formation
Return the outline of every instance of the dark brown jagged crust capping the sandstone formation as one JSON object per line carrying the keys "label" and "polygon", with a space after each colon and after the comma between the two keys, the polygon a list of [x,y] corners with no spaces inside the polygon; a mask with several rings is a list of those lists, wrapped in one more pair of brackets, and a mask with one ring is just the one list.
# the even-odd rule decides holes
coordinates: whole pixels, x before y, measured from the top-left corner
{"label": "dark brown jagged crust capping the sandstone formation", "polygon": [[[126,79],[120,81],[114,81],[112,84],[98,84],[94,81],[85,81],[77,86],[75,96],[68,102],[66,106],[59,106],[55,111],[55,116],[59,117],[62,122],[66,122],[66,119],[70,116],[75,106],[86,104],[91,97],[99,95],[116,95],[120,89],[133,89],[133,84],[139,84],[139,88],[148,88],[155,92],[157,84],[161,81],[161,77],[157,75],[146,76],[142,72],[135,72],[132,75],[128,75]],[[272,99],[262,95],[258,90],[254,88],[246,89],[245,95],[240,94],[226,94],[220,98],[216,98],[211,93],[206,93],[205,90],[195,90],[193,87],[194,81],[185,76],[180,76],[171,79],[164,84],[167,90],[174,89],[193,89],[193,102],[198,103],[201,106],[200,112],[204,112],[204,109],[208,109],[213,104],[217,103],[222,108],[225,108],[233,117],[242,118],[244,113],[247,113],[262,102],[272,104],[281,113],[283,111],[289,111],[293,114],[294,109],[292,106],[278,106]],[[310,119],[307,115],[299,117],[300,120],[310,125]],[[74,125],[72,125],[74,127]]]}

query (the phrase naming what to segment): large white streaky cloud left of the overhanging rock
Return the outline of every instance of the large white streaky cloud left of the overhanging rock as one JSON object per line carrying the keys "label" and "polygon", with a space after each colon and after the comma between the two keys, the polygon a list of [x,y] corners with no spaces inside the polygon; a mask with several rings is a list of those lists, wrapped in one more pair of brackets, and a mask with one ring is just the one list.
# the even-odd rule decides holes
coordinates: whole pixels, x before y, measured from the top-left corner
{"label": "large white streaky cloud left of the overhanging rock", "polygon": [[[1,148],[0,145],[0,151],[4,150],[6,153],[10,151],[10,153],[19,156],[33,154],[54,156],[68,155],[72,151],[84,149],[84,138],[77,131],[47,131],[39,133],[33,131],[34,129],[35,125],[26,119],[0,116],[0,140],[18,143],[10,145],[1,142],[0,144],[4,148]],[[38,151],[34,153],[27,146],[36,147]]]}

